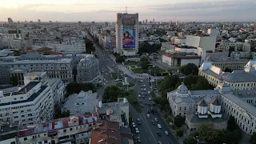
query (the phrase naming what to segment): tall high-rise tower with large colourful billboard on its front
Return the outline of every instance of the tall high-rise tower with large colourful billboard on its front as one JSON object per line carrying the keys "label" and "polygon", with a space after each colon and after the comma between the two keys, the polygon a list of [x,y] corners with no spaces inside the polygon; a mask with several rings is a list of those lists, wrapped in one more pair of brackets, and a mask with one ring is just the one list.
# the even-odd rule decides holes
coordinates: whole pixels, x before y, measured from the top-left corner
{"label": "tall high-rise tower with large colourful billboard on its front", "polygon": [[118,13],[115,33],[118,54],[134,56],[138,53],[138,14]]}

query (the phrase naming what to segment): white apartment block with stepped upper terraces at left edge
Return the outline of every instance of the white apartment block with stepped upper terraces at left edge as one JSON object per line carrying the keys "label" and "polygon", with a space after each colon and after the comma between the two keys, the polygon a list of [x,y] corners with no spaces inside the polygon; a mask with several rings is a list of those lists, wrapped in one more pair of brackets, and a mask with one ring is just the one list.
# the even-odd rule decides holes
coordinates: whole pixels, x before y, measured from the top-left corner
{"label": "white apartment block with stepped upper terraces at left edge", "polygon": [[0,91],[0,123],[20,126],[50,121],[54,116],[54,94],[42,82],[29,82],[17,92]]}

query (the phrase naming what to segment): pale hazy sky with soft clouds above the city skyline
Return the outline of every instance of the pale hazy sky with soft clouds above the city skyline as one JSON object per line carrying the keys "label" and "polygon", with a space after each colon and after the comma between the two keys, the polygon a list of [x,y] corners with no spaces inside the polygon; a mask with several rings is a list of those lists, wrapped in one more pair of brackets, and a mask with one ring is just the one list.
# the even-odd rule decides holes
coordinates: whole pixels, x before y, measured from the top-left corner
{"label": "pale hazy sky with soft clouds above the city skyline", "polygon": [[138,13],[139,20],[256,21],[256,0],[1,0],[0,22],[114,22],[116,13]]}

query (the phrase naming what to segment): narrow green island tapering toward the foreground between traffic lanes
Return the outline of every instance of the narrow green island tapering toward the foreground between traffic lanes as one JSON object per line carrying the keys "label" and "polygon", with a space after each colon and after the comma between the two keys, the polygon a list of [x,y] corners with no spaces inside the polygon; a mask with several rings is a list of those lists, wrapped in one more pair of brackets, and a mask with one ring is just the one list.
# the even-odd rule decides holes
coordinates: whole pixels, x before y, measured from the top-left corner
{"label": "narrow green island tapering toward the foreground between traffic lanes", "polygon": [[132,91],[125,91],[122,92],[122,98],[127,98],[128,102],[130,102],[130,104],[132,106],[134,106],[134,109],[137,110],[138,113],[142,113],[142,108],[138,102],[138,96],[137,96],[137,92],[132,90]]}

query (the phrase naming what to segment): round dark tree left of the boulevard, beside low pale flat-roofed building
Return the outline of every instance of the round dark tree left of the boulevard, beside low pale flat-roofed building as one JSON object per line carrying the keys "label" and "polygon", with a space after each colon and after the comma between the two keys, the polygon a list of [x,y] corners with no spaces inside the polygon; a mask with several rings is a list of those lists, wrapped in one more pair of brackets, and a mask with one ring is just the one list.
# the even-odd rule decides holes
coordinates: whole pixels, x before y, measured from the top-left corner
{"label": "round dark tree left of the boulevard, beside low pale flat-roofed building", "polygon": [[103,94],[103,102],[116,102],[118,96],[122,94],[118,86],[107,86]]}

